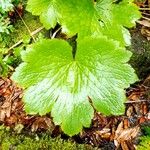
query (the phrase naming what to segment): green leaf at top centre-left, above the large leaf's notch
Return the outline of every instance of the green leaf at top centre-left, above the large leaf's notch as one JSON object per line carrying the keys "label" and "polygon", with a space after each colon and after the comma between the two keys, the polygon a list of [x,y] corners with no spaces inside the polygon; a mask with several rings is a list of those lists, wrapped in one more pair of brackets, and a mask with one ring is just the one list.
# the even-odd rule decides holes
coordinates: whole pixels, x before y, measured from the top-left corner
{"label": "green leaf at top centre-left, above the large leaf's notch", "polygon": [[[39,10],[38,10],[39,8]],[[100,34],[99,22],[91,0],[29,0],[27,10],[40,15],[41,22],[48,29],[56,22],[68,36]]]}

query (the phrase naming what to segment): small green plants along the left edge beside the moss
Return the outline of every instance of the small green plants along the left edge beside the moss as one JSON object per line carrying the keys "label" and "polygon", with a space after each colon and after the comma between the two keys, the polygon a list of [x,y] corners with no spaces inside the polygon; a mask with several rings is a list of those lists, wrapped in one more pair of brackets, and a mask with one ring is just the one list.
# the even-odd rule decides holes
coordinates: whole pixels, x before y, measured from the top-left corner
{"label": "small green plants along the left edge beside the moss", "polygon": [[[14,31],[9,18],[9,12],[14,11],[14,7],[20,0],[1,0],[0,1],[0,75],[8,76],[9,70],[12,70],[12,64],[18,61],[17,55],[7,52],[7,43],[12,39],[10,34]],[[15,53],[15,51],[13,52]]]}

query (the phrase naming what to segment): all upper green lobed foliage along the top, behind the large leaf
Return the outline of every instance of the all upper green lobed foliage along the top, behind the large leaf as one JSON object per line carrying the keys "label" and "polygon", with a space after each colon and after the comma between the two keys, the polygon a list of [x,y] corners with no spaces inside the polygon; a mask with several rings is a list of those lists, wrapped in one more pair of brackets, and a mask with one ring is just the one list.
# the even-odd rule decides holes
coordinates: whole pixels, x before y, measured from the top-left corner
{"label": "all upper green lobed foliage along the top, behind the large leaf", "polygon": [[27,10],[39,15],[47,29],[58,22],[67,35],[78,33],[82,38],[104,34],[120,41],[122,46],[130,44],[126,40],[130,34],[124,27],[133,27],[141,17],[131,0],[116,3],[113,0],[28,0]]}

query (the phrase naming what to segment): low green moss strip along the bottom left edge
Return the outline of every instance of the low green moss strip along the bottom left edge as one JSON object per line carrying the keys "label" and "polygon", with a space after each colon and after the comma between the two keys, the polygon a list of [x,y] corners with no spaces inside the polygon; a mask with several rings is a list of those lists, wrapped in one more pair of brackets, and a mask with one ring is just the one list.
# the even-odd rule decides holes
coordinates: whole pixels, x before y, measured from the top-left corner
{"label": "low green moss strip along the bottom left edge", "polygon": [[76,144],[71,140],[63,140],[60,137],[52,138],[48,133],[25,135],[16,134],[1,126],[0,129],[1,150],[94,150],[89,145]]}

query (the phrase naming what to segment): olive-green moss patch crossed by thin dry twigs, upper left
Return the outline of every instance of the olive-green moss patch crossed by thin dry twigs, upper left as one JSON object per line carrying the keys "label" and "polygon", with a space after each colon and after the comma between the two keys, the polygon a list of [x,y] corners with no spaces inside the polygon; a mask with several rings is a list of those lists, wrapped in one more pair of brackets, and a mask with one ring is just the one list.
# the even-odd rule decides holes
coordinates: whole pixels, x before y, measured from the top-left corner
{"label": "olive-green moss patch crossed by thin dry twigs, upper left", "polygon": [[[24,15],[22,18],[26,26],[30,30],[30,32],[33,32],[36,29],[42,27],[42,24],[40,23],[39,18],[36,16],[33,16],[31,13],[27,11],[24,12]],[[27,27],[25,26],[25,24],[23,23],[23,21],[21,20],[21,18],[19,18],[19,16],[17,16],[17,19],[15,19],[14,21],[13,32],[4,37],[3,42],[0,43],[0,47],[11,47],[12,45],[14,45],[15,43],[17,43],[18,41],[22,39],[23,40],[30,39],[30,33]],[[46,32],[45,30],[43,31]],[[38,34],[36,35],[36,37],[37,36]]]}

